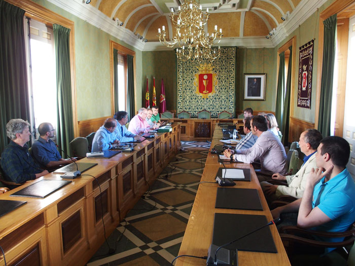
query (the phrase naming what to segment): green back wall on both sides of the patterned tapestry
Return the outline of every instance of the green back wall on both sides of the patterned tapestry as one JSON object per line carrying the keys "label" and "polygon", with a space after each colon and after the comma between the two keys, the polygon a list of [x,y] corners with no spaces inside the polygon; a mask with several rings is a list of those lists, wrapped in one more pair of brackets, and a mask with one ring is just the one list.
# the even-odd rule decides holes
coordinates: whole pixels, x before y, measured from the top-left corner
{"label": "green back wall on both sides of the patterned tapestry", "polygon": [[[252,107],[256,110],[275,111],[276,99],[276,63],[273,60],[274,49],[237,49],[236,56],[236,110]],[[176,61],[174,51],[143,52],[142,92],[146,92],[146,78],[149,79],[150,97],[152,97],[153,77],[156,80],[157,97],[160,96],[160,81],[164,78],[166,108],[176,110]],[[266,73],[265,101],[243,100],[243,74]],[[145,106],[145,99],[142,99]]]}

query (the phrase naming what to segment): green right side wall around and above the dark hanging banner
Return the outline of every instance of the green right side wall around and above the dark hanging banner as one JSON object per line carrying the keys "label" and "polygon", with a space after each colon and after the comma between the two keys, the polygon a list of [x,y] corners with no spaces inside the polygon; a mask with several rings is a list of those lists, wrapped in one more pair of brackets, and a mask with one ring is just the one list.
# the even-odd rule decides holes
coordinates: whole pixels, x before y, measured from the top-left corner
{"label": "green right side wall around and above the dark hanging banner", "polygon": [[[305,22],[303,22],[297,29],[295,29],[285,40],[283,40],[276,48],[275,48],[275,58],[274,61],[277,62],[277,49],[282,45],[287,43],[293,36],[296,36],[296,47],[293,49],[296,50],[296,61],[295,62],[295,78],[294,78],[294,113],[293,117],[314,123],[315,118],[315,101],[316,101],[316,91],[317,91],[317,72],[318,72],[318,57],[323,56],[318,54],[318,33],[319,33],[319,14],[321,14],[326,8],[328,8],[333,2],[336,0],[328,0],[322,7],[318,9],[318,11],[314,12]],[[311,95],[311,108],[301,108],[297,107],[297,89],[298,89],[298,67],[299,67],[299,47],[308,43],[312,39],[314,40],[313,47],[313,78],[312,78],[312,95]],[[323,40],[322,40],[323,42]],[[276,66],[277,67],[277,66]],[[277,73],[277,72],[276,72]],[[277,81],[275,80],[275,86]],[[291,114],[292,116],[292,114]]]}

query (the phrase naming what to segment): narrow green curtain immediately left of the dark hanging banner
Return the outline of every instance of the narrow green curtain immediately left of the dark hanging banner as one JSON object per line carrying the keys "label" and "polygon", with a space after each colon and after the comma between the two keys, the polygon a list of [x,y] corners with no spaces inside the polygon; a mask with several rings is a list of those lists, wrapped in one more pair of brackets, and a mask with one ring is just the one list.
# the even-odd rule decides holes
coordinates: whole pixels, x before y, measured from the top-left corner
{"label": "narrow green curtain immediately left of the dark hanging banner", "polygon": [[285,101],[283,102],[282,119],[279,122],[279,127],[282,133],[282,143],[289,145],[289,123],[290,123],[290,97],[291,97],[291,80],[292,80],[292,46],[289,47],[290,58],[287,68],[286,92]]}

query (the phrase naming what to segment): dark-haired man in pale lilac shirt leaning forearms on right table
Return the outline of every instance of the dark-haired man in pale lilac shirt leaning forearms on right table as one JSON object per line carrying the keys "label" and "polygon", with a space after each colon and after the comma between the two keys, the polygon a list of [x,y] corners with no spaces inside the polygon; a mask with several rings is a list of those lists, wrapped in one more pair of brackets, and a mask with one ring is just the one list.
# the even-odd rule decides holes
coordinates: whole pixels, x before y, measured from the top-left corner
{"label": "dark-haired man in pale lilac shirt leaning forearms on right table", "polygon": [[[224,155],[243,163],[253,163],[260,160],[261,171],[266,173],[287,173],[287,157],[280,140],[267,128],[263,116],[255,116],[251,121],[253,135],[258,139],[251,148],[237,149],[235,154],[226,149]],[[258,176],[259,178],[259,176]]]}

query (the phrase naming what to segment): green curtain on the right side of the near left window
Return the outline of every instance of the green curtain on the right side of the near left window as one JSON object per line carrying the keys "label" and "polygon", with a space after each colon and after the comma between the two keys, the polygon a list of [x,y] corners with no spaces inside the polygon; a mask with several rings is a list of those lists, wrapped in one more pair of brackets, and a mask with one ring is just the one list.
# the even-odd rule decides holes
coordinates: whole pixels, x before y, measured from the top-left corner
{"label": "green curtain on the right side of the near left window", "polygon": [[57,77],[57,144],[69,155],[69,142],[74,139],[72,79],[70,77],[70,29],[53,24]]}

